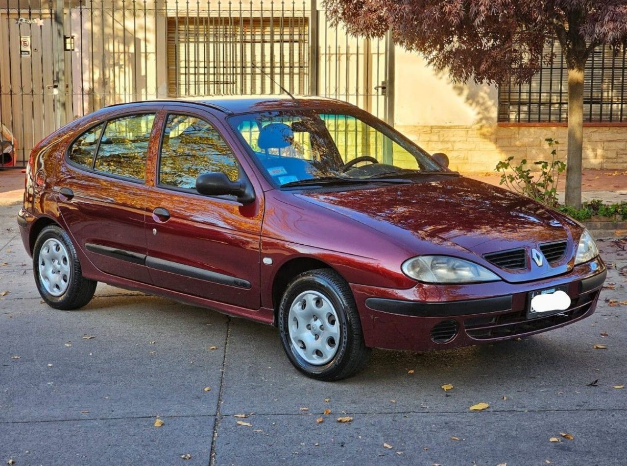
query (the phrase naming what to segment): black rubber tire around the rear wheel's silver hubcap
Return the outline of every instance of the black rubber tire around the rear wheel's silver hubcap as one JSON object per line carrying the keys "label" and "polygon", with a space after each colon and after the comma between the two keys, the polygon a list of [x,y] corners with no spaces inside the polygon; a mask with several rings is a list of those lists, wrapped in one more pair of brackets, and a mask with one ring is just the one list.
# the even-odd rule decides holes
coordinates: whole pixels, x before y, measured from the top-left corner
{"label": "black rubber tire around the rear wheel's silver hubcap", "polygon": [[[40,260],[43,259],[43,257],[40,256],[41,247],[48,239],[56,239],[61,242],[68,252],[70,277],[65,292],[60,296],[50,294],[41,283],[39,267]],[[93,294],[96,291],[96,285],[98,284],[97,281],[83,277],[78,255],[76,254],[76,249],[72,244],[70,236],[58,225],[45,227],[37,237],[33,251],[33,274],[41,298],[46,301],[48,306],[55,309],[69,310],[82,308],[92,300]]]}

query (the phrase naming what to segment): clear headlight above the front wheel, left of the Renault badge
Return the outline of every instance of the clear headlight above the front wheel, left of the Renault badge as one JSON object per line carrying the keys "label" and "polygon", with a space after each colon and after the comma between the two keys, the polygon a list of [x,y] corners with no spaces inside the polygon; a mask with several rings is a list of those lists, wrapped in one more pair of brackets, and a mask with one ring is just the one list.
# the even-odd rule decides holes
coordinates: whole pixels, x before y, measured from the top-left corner
{"label": "clear headlight above the front wheel, left of the Renault badge", "polygon": [[449,256],[418,256],[403,262],[403,273],[428,283],[468,283],[500,280],[498,276],[474,262]]}

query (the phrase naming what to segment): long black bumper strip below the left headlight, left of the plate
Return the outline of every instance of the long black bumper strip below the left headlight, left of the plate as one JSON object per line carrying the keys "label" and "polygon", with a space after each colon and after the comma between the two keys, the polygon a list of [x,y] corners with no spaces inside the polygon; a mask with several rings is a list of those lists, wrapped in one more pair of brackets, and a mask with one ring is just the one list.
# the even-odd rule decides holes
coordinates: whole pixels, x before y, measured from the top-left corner
{"label": "long black bumper strip below the left headlight, left of the plate", "polygon": [[384,313],[402,314],[415,317],[450,317],[466,314],[495,313],[512,309],[512,296],[470,299],[468,301],[448,301],[446,303],[416,303],[398,299],[368,298],[366,306]]}

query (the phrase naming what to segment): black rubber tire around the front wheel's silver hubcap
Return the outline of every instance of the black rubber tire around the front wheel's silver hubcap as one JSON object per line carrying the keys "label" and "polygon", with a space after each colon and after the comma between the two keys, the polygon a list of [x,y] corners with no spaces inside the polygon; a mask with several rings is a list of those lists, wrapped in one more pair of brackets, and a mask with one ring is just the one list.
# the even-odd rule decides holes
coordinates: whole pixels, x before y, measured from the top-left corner
{"label": "black rubber tire around the front wheel's silver hubcap", "polygon": [[[340,341],[337,352],[324,365],[314,365],[303,359],[290,338],[288,317],[290,306],[299,294],[317,291],[334,306],[340,324]],[[303,306],[304,307],[304,306]],[[303,272],[288,285],[278,311],[278,327],[283,350],[292,364],[308,377],[334,381],[350,377],[366,365],[371,349],[364,344],[359,312],[350,288],[344,279],[331,269]]]}

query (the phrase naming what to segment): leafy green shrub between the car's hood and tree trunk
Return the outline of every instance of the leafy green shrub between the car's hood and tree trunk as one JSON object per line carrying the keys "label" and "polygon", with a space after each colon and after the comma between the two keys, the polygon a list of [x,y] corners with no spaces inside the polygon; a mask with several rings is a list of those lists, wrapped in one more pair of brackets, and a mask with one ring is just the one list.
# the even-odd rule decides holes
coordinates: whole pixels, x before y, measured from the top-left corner
{"label": "leafy green shrub between the car's hood and tree trunk", "polygon": [[566,170],[566,163],[557,159],[557,146],[559,141],[547,138],[545,141],[551,148],[551,160],[539,160],[534,162],[535,168],[527,164],[527,159],[520,160],[518,165],[512,165],[514,157],[507,157],[497,163],[495,170],[501,173],[498,184],[505,185],[509,190],[535,199],[550,207],[557,206],[557,182],[559,175]]}

